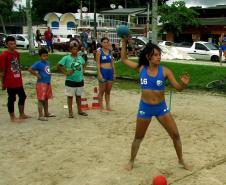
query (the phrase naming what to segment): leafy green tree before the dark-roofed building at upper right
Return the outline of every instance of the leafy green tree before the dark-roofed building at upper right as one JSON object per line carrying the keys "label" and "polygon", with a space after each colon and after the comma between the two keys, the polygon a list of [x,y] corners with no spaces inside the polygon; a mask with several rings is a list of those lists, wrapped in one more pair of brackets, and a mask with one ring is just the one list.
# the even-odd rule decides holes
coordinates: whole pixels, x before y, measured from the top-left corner
{"label": "leafy green tree before the dark-roofed building at upper right", "polygon": [[173,2],[171,6],[162,5],[159,7],[160,22],[162,31],[172,32],[179,35],[188,26],[198,26],[198,13],[185,6],[184,1]]}

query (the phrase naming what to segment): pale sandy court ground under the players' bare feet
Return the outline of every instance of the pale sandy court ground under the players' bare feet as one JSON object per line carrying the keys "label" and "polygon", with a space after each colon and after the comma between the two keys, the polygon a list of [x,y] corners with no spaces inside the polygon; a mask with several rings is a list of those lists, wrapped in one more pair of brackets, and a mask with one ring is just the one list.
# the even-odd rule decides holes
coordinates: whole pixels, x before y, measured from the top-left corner
{"label": "pale sandy court ground under the players' bare feet", "polygon": [[[113,88],[115,111],[89,110],[89,116],[82,117],[75,106],[75,118],[69,119],[63,108],[64,77],[54,75],[55,98],[49,109],[57,117],[41,122],[37,120],[35,79],[26,73],[24,82],[26,112],[33,117],[24,123],[9,122],[6,92],[0,92],[0,185],[150,185],[155,175],[165,175],[175,185],[226,184],[225,96],[173,93],[172,114],[192,171],[178,167],[169,136],[153,119],[135,168],[127,172],[123,166],[130,156],[139,92]],[[86,78],[89,103],[96,85],[95,78]]]}

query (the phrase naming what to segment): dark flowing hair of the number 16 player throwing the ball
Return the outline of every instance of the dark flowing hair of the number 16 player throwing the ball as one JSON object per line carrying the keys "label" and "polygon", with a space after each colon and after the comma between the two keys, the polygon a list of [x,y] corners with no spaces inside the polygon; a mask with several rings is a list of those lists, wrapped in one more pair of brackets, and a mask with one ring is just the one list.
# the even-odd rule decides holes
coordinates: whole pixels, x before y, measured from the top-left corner
{"label": "dark flowing hair of the number 16 player throwing the ball", "polygon": [[158,47],[156,44],[153,44],[151,42],[149,42],[145,48],[141,51],[140,55],[139,55],[139,62],[138,62],[138,66],[149,66],[149,61],[148,61],[148,57],[151,57],[154,54],[154,50],[158,50],[161,53],[161,48]]}

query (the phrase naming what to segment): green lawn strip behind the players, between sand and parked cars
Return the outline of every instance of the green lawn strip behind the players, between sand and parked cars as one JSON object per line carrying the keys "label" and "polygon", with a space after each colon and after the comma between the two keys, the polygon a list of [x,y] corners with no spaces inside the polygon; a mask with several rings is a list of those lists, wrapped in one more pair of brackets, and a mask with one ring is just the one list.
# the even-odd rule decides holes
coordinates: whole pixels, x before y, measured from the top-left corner
{"label": "green lawn strip behind the players, between sand and parked cars", "polygon": [[[35,61],[39,59],[38,54],[30,56],[27,52],[21,53],[21,64],[23,69],[30,67]],[[65,54],[66,55],[66,54]],[[61,60],[64,55],[59,54],[49,54],[50,67],[52,72],[57,72],[56,65]],[[136,61],[137,60],[133,60]],[[206,84],[213,80],[222,80],[226,76],[226,68],[220,66],[207,66],[207,65],[195,65],[195,64],[180,64],[172,62],[162,62],[162,65],[171,69],[179,80],[179,77],[184,72],[189,73],[190,83],[188,85],[189,89],[205,90]],[[135,80],[131,82],[130,80],[117,80],[115,86],[121,89],[139,89],[139,74],[128,68],[122,62],[117,62],[115,64],[116,76],[126,77],[128,79]],[[226,88],[225,88],[226,89]]]}

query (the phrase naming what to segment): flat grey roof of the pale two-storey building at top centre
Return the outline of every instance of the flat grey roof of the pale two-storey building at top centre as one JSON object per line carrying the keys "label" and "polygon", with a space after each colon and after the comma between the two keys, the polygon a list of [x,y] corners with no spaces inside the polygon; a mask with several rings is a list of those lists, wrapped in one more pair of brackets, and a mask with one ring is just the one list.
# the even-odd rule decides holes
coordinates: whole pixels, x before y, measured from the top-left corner
{"label": "flat grey roof of the pale two-storey building at top centre", "polygon": [[112,15],[112,14],[117,14],[117,15],[128,15],[128,14],[135,14],[135,13],[140,13],[146,11],[146,8],[118,8],[118,9],[113,9],[113,10],[105,10],[101,11],[101,14],[105,15]]}

